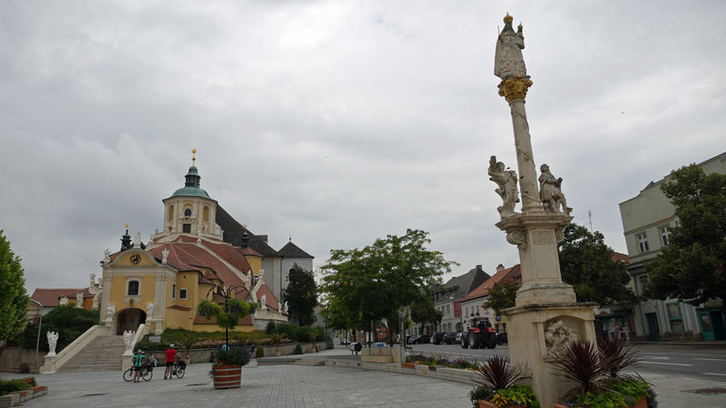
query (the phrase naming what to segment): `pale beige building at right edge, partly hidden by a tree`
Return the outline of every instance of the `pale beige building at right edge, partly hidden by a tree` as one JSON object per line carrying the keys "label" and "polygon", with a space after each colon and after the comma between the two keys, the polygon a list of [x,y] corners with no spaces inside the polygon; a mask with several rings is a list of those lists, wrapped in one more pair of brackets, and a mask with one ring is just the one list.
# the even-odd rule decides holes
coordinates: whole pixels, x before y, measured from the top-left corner
{"label": "pale beige building at right edge, partly hidden by a tree", "polygon": [[[699,167],[706,173],[726,174],[726,152],[699,163]],[[643,295],[643,284],[648,278],[645,264],[668,245],[670,230],[678,223],[675,208],[661,190],[667,179],[651,181],[637,196],[620,203],[623,234],[630,257],[628,272],[636,295]],[[631,335],[654,341],[720,338],[722,310],[722,302],[698,308],[675,299],[643,302],[633,307],[635,326]]]}

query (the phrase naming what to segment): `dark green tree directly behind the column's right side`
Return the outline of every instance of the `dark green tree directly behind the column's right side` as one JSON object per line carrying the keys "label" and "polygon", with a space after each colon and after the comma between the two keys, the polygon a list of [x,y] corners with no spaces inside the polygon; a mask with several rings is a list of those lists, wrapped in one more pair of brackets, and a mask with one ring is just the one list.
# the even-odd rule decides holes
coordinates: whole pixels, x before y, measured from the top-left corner
{"label": "dark green tree directly behind the column's right side", "polygon": [[633,290],[626,287],[630,275],[625,265],[613,260],[613,248],[605,245],[599,231],[591,233],[570,224],[564,227],[559,250],[562,280],[574,287],[579,302],[611,305],[637,300]]}

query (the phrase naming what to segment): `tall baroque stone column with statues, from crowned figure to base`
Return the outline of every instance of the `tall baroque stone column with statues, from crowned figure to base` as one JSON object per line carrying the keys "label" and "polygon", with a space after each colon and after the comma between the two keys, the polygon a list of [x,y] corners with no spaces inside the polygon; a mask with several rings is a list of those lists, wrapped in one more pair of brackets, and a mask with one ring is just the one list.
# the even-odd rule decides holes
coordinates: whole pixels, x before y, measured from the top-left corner
{"label": "tall baroque stone column with statues, from crowned figure to base", "polygon": [[[567,342],[587,339],[594,342],[594,304],[578,304],[572,286],[562,281],[557,243],[564,238],[563,228],[572,221],[560,189],[562,179],[546,169],[537,178],[535,156],[525,111],[525,98],[532,86],[526,74],[522,51],[525,37],[522,25],[515,32],[512,16],[505,16],[495,53],[495,75],[501,78],[499,94],[504,96],[512,114],[522,212],[500,210],[496,227],[506,232],[507,242],[516,245],[522,267],[522,287],[516,294],[515,307],[505,309],[509,334],[509,355],[513,362],[525,365],[532,375],[531,386],[537,399],[553,406],[567,384],[554,366],[553,355]],[[504,164],[490,160],[489,175],[505,189]],[[541,194],[538,181],[547,183]],[[515,190],[509,186],[508,191]],[[512,198],[502,195],[505,203]],[[547,204],[543,207],[543,200]],[[562,207],[562,211],[560,211]]]}

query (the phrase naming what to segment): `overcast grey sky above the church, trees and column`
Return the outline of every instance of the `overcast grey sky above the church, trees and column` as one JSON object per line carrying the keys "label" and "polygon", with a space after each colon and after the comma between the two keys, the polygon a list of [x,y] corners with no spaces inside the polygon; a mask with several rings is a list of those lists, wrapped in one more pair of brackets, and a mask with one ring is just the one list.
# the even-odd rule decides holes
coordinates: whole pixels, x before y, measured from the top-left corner
{"label": "overcast grey sky above the church, trees and column", "polygon": [[626,252],[618,203],[726,151],[726,3],[16,1],[0,7],[0,228],[36,287],[146,240],[196,148],[201,187],[315,257],[406,228],[492,273],[489,156],[516,168],[493,74],[524,25],[535,162]]}

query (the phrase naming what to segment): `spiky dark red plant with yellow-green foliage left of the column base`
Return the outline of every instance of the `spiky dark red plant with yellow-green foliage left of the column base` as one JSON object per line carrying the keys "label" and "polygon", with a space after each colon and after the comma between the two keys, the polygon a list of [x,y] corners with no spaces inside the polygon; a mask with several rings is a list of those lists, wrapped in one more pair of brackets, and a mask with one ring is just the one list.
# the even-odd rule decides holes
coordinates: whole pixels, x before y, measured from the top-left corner
{"label": "spiky dark red plant with yellow-green foliage left of the column base", "polygon": [[469,393],[475,408],[481,406],[523,406],[539,408],[532,389],[520,385],[529,378],[521,364],[511,364],[501,355],[493,355],[476,367],[479,374],[474,390]]}

